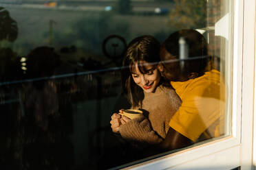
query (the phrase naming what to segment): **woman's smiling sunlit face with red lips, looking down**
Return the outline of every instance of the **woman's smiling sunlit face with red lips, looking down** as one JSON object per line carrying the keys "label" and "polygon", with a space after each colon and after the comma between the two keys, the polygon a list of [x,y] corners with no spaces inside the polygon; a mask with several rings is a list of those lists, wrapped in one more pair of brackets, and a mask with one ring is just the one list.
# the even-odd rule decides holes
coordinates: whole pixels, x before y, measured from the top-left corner
{"label": "woman's smiling sunlit face with red lips, looking down", "polygon": [[149,62],[142,62],[145,73],[141,73],[138,68],[138,63],[135,64],[135,71],[131,73],[134,82],[140,86],[145,93],[153,93],[160,81],[160,73],[156,66],[149,64]]}

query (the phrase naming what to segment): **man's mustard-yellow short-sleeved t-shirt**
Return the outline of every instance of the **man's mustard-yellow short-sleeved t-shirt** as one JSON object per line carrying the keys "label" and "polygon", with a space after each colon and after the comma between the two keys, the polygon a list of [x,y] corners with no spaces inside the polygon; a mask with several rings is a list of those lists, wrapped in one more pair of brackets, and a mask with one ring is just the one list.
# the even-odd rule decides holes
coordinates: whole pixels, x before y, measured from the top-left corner
{"label": "man's mustard-yellow short-sleeved t-shirt", "polygon": [[219,71],[211,70],[186,82],[171,82],[182,105],[171,117],[170,127],[194,142],[202,135],[206,138],[222,135],[225,104],[222,79]]}

